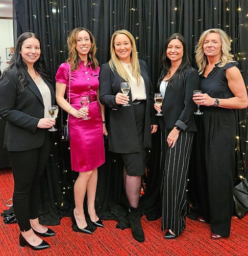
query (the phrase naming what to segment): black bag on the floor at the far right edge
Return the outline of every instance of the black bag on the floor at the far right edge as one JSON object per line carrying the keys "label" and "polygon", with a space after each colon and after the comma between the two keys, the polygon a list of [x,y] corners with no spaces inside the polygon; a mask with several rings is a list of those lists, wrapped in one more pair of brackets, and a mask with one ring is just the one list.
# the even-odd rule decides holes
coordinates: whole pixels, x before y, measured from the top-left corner
{"label": "black bag on the floor at the far right edge", "polygon": [[241,219],[248,212],[248,182],[246,178],[237,178],[233,188],[235,215]]}

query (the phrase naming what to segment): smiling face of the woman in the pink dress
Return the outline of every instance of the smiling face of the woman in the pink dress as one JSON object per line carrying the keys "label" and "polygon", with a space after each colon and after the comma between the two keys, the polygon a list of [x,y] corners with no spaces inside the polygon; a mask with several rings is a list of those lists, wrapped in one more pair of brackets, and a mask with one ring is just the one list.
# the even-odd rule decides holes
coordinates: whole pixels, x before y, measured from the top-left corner
{"label": "smiling face of the woman in the pink dress", "polygon": [[90,35],[82,30],[78,33],[76,50],[81,59],[85,59],[91,48]]}

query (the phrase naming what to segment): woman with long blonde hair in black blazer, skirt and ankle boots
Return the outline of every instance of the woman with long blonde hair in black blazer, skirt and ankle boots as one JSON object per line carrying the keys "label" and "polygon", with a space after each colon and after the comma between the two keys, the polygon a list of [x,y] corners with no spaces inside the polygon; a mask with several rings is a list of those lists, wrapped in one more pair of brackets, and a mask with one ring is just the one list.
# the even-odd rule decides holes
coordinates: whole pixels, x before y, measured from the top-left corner
{"label": "woman with long blonde hair in black blazer, skirt and ankle boots", "polygon": [[[100,70],[100,101],[109,108],[109,150],[120,153],[123,179],[129,200],[129,222],[133,237],[144,241],[138,209],[141,176],[145,172],[151,133],[157,131],[153,109],[154,93],[146,63],[137,57],[135,39],[127,30],[118,30],[111,39],[111,59]],[[120,83],[129,81],[128,96]],[[129,106],[122,106],[129,103]]]}

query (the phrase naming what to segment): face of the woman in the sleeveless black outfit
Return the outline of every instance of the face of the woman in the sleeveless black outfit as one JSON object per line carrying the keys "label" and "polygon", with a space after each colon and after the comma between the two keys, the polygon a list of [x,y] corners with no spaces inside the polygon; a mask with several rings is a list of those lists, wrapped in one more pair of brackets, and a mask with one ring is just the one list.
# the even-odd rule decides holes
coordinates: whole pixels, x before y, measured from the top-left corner
{"label": "face of the woman in the sleeveless black outfit", "polygon": [[218,33],[210,33],[205,37],[203,50],[207,57],[220,57],[221,39]]}

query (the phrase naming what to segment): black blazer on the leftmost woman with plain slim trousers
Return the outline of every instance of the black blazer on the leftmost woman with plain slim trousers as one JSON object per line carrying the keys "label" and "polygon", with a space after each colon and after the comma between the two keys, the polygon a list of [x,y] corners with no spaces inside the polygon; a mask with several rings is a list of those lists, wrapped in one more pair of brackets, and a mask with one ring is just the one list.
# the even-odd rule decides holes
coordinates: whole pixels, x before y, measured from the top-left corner
{"label": "black blazer on the leftmost woman with plain slim trousers", "polygon": [[[4,145],[8,151],[27,151],[44,143],[45,129],[37,124],[44,117],[42,96],[28,72],[29,80],[24,92],[17,92],[16,69],[6,71],[8,82],[0,82],[0,117],[7,121]],[[52,104],[55,93],[52,85],[44,79],[51,91]]]}

